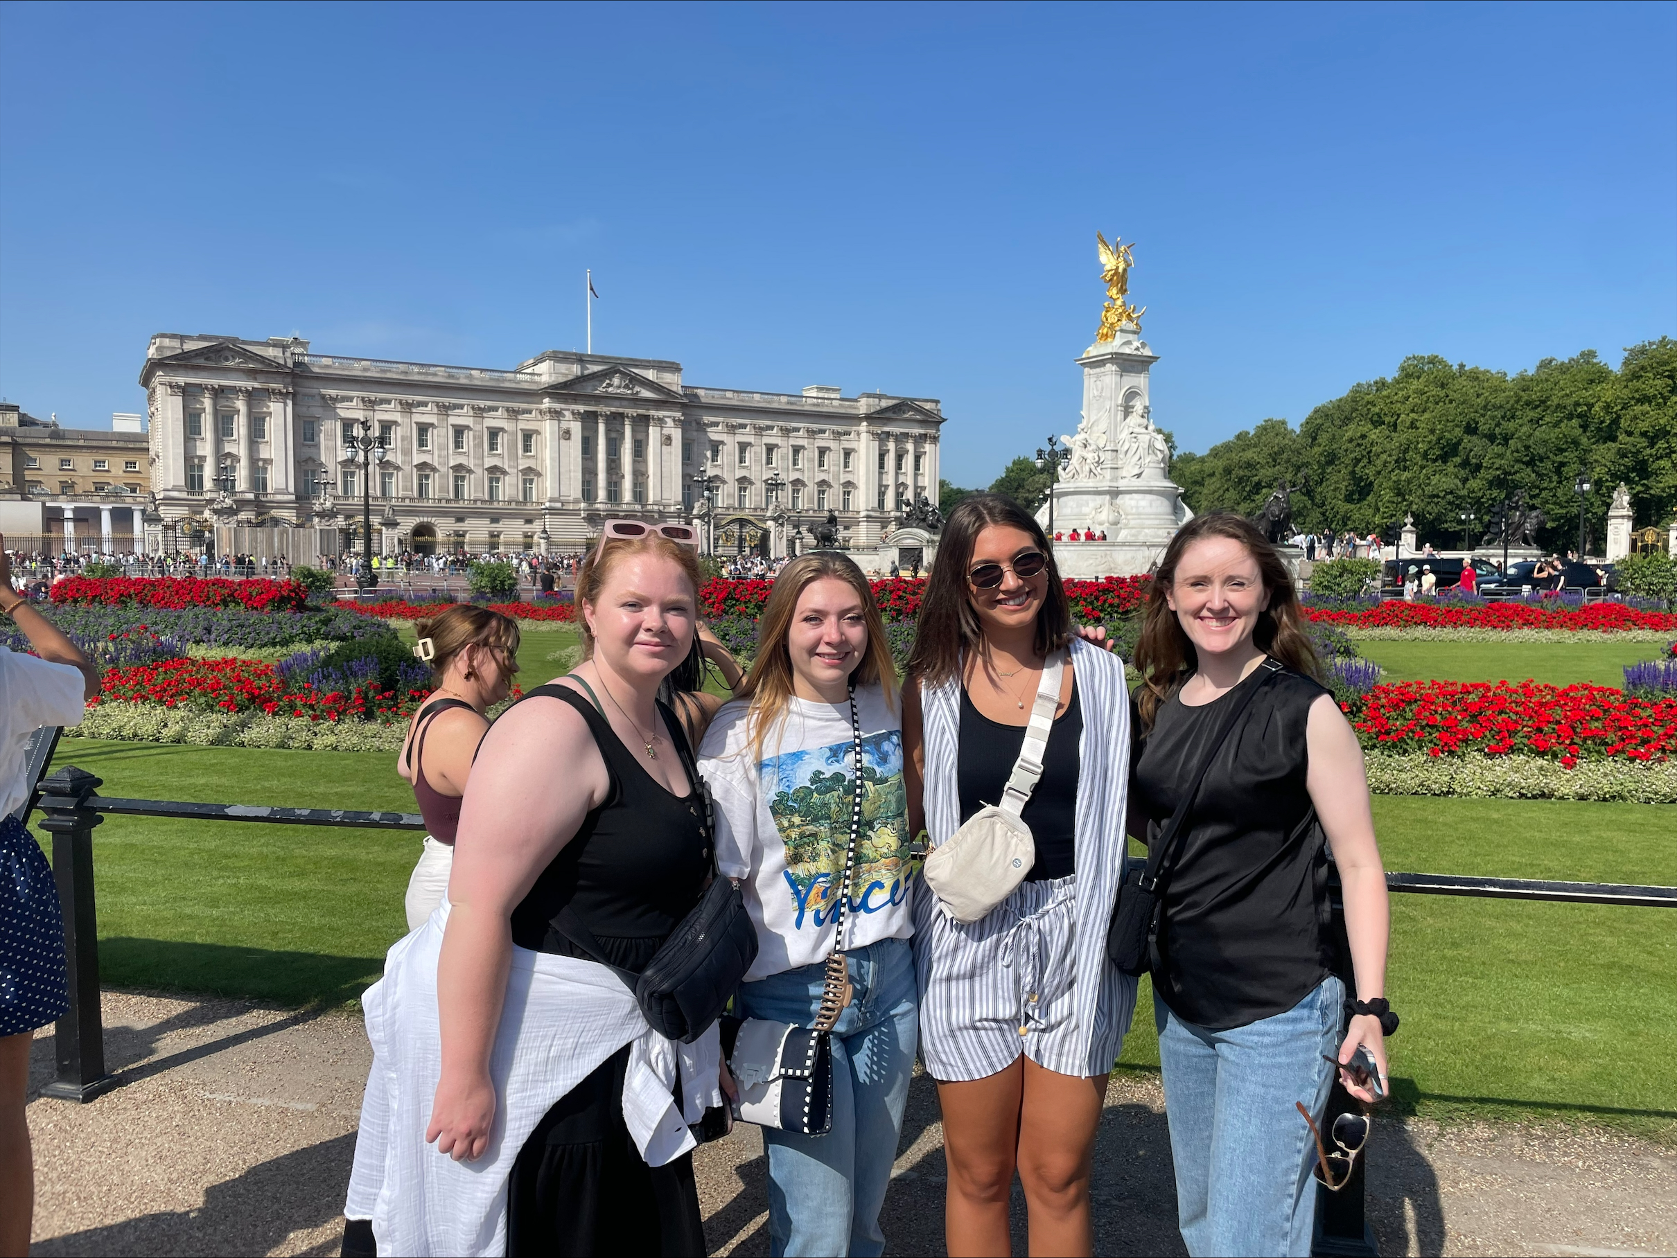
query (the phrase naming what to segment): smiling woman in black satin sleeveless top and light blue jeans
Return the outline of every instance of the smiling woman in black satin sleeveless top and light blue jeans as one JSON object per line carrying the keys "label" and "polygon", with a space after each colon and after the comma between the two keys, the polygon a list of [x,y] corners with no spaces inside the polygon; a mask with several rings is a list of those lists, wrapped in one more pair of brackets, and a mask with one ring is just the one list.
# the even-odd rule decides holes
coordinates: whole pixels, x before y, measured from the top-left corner
{"label": "smiling woman in black satin sleeveless top and light blue jeans", "polygon": [[[1266,658],[1283,669],[1259,668]],[[1385,996],[1385,872],[1362,750],[1313,676],[1286,565],[1231,512],[1196,517],[1166,547],[1135,666],[1139,839],[1171,819],[1236,693],[1261,688],[1160,879],[1154,1016],[1182,1240],[1196,1256],[1308,1255],[1316,1149],[1295,1102],[1320,1119],[1330,1060],[1348,1062],[1358,1045],[1387,1072],[1378,1016],[1352,1016],[1342,1035],[1350,1010],[1332,973],[1323,832],[1345,889],[1357,1000]]]}

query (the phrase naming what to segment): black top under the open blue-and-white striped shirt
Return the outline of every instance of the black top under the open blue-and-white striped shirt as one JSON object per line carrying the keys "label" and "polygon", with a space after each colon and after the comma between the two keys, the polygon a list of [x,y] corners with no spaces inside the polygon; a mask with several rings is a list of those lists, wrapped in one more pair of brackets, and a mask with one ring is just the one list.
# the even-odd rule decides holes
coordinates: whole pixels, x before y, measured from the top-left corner
{"label": "black top under the open blue-and-white striped shirt", "polygon": [[[1036,842],[1036,864],[1026,882],[1048,882],[1077,872],[1077,765],[1083,738],[1083,708],[1072,681],[1072,701],[1055,718],[1043,748],[1043,775],[1020,814]],[[961,733],[956,748],[956,792],[961,822],[986,803],[999,803],[1025,745],[1023,725],[1001,725],[973,706],[961,688]]]}

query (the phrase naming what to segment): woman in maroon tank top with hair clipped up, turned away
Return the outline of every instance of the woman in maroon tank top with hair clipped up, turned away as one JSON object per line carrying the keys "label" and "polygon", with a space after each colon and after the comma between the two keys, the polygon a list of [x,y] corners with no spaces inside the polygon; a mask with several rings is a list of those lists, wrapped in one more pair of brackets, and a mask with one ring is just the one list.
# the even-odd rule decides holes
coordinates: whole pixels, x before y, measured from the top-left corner
{"label": "woman in maroon tank top with hair clipped up, turned away", "polygon": [[414,788],[426,837],[408,879],[408,929],[419,929],[443,902],[454,862],[459,797],[478,743],[490,730],[488,710],[511,694],[518,673],[518,622],[488,607],[454,604],[414,624],[414,654],[431,666],[436,689],[408,723],[396,772]]}

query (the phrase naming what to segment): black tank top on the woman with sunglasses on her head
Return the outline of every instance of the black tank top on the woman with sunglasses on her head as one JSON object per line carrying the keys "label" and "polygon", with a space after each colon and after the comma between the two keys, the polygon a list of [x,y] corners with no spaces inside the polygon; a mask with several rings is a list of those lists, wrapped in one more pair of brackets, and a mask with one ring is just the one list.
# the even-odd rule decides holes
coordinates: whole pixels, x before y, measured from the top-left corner
{"label": "black tank top on the woman with sunglasses on her head", "polygon": [[[513,943],[538,953],[594,959],[553,926],[560,909],[569,906],[614,966],[641,973],[704,891],[711,872],[704,802],[693,793],[671,795],[577,691],[548,683],[525,698],[535,694],[548,694],[582,713],[600,748],[610,788],[513,909]],[[693,780],[681,725],[662,703],[657,711]],[[575,790],[562,765],[553,767],[552,785],[553,790]]]}

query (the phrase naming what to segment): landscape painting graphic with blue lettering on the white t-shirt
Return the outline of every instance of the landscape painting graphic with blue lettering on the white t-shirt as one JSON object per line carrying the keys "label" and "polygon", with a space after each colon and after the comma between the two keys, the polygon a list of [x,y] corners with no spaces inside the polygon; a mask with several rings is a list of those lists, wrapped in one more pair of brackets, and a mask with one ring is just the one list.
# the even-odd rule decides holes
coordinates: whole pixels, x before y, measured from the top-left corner
{"label": "landscape painting graphic with blue lettering on the white t-shirt", "polygon": [[[768,812],[787,845],[793,928],[818,929],[838,907],[844,850],[850,842],[852,741],[788,751],[758,768]],[[901,904],[912,879],[902,733],[862,740],[862,827],[857,834],[850,912]]]}

